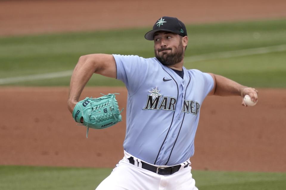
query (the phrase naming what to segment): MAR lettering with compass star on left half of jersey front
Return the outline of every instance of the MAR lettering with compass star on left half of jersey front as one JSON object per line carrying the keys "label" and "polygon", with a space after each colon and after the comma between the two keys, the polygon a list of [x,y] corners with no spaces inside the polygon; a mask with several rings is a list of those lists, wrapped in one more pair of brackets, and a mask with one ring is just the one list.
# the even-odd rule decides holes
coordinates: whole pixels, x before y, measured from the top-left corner
{"label": "MAR lettering with compass star on left half of jersey front", "polygon": [[175,111],[175,105],[177,99],[169,96],[162,96],[160,90],[157,87],[152,88],[149,91],[151,94],[148,95],[146,106],[143,110],[173,110]]}

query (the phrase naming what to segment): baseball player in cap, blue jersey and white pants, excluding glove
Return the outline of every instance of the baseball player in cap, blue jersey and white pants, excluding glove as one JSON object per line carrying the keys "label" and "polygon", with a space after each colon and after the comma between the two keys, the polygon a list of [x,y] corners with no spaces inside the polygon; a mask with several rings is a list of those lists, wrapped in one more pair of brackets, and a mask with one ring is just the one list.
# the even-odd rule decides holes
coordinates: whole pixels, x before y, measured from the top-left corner
{"label": "baseball player in cap, blue jersey and white pants, excluding glove", "polygon": [[[123,81],[127,90],[124,157],[97,190],[197,190],[189,158],[200,108],[207,95],[245,95],[258,91],[223,76],[184,67],[188,36],[177,18],[156,20],[145,34],[155,57],[91,54],[81,56],[71,77],[68,108],[95,74]],[[84,122],[84,121],[81,121]]]}

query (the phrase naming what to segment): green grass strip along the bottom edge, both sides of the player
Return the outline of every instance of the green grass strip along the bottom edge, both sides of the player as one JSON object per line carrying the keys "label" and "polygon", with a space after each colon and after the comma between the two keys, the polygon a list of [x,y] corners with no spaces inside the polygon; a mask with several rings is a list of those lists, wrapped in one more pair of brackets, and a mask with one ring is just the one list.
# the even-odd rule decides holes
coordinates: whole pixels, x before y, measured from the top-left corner
{"label": "green grass strip along the bottom edge, both sides of the player", "polygon": [[[0,189],[95,189],[110,168],[0,166]],[[199,190],[286,189],[286,173],[192,171]]]}

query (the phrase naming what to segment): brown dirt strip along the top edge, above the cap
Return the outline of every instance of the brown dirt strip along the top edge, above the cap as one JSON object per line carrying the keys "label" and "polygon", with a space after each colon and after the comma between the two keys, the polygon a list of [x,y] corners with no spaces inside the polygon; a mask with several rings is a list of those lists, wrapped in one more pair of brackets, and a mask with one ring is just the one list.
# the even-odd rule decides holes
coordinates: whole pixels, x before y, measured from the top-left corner
{"label": "brown dirt strip along the top edge, above the cap", "polygon": [[0,35],[152,26],[162,16],[185,24],[286,17],[285,0],[0,1]]}

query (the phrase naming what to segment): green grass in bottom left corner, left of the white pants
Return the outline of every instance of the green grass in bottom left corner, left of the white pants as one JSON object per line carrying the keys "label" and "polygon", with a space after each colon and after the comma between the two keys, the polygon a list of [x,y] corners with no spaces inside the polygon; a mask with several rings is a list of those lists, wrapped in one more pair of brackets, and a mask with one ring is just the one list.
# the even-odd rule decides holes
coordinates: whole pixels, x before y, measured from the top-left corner
{"label": "green grass in bottom left corner, left of the white pants", "polygon": [[0,189],[95,189],[112,169],[0,166]]}

